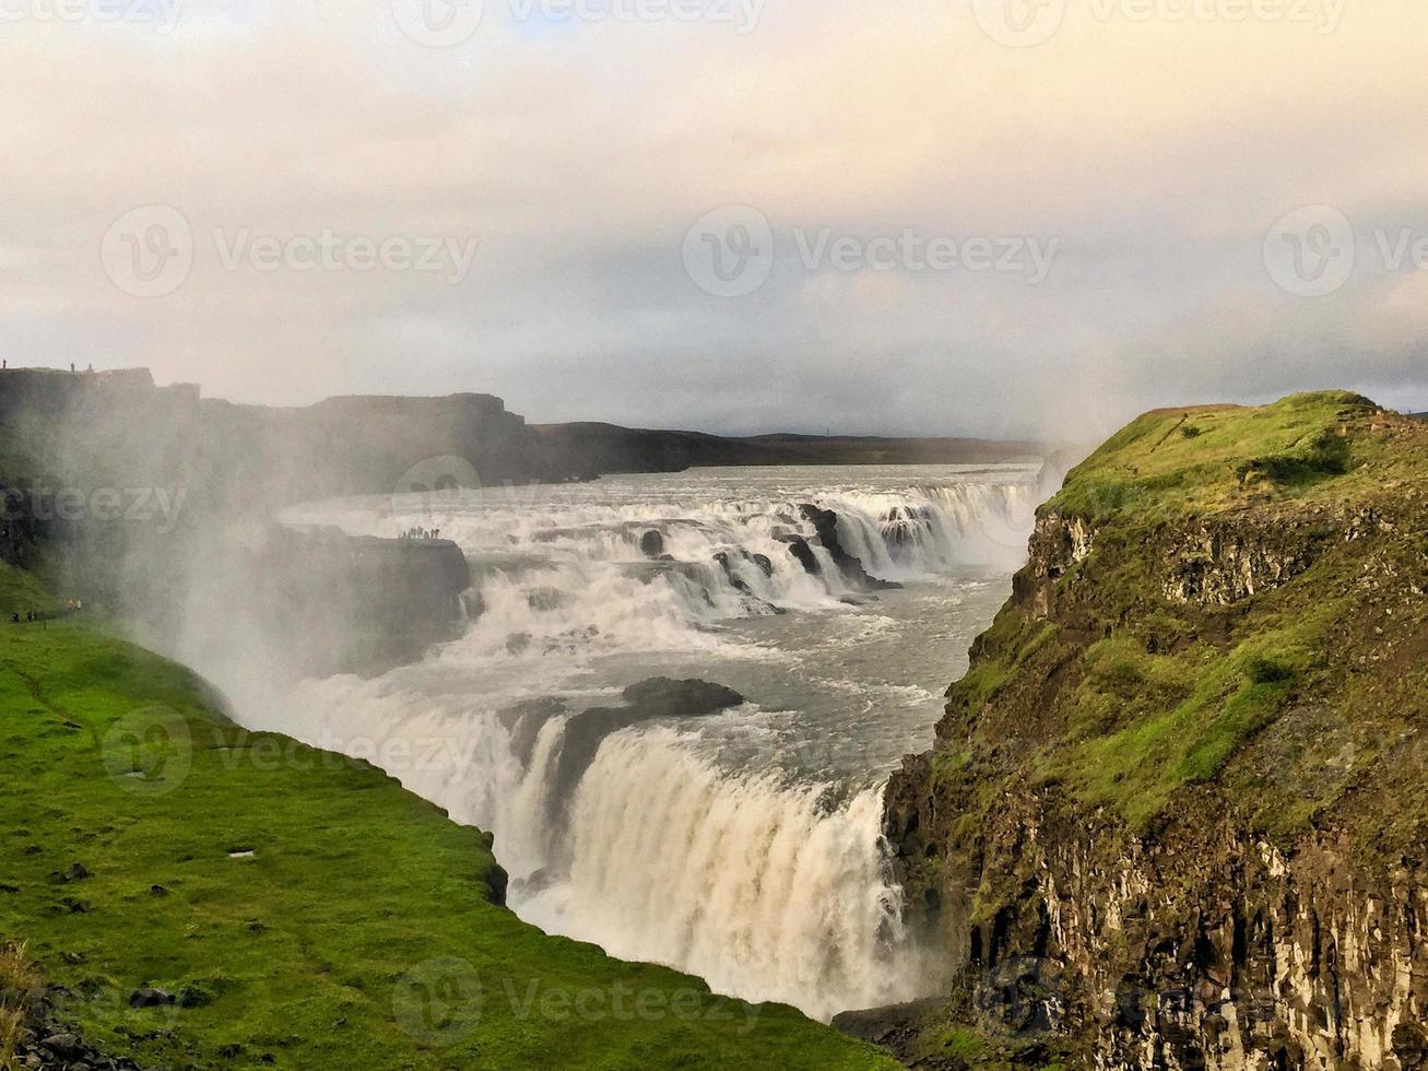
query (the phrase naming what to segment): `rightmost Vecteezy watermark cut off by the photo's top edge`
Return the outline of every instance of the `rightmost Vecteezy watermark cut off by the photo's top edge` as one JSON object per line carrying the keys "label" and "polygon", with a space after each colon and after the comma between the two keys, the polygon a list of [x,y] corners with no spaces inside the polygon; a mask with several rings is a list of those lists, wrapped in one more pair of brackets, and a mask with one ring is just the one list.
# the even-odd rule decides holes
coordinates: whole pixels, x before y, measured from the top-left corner
{"label": "rightmost Vecteezy watermark cut off by the photo's top edge", "polygon": [[[1338,30],[1349,0],[1085,0],[1098,23],[1284,23]],[[1067,0],[972,0],[977,24],[998,44],[1027,49],[1057,34]]]}

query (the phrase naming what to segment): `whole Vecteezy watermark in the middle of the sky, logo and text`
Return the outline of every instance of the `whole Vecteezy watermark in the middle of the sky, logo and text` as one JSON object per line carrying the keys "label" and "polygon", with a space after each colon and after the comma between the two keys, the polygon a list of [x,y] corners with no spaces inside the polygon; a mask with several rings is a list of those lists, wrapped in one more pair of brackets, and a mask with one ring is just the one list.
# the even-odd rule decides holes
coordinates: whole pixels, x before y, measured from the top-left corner
{"label": "whole Vecteezy watermark in the middle of the sky, logo and text", "polygon": [[[863,237],[828,227],[795,227],[791,246],[804,271],[998,271],[1037,286],[1051,273],[1061,238],[928,236],[912,228]],[[715,297],[744,297],[768,281],[777,250],[774,230],[757,208],[730,206],[703,216],[684,236],[684,270]]]}

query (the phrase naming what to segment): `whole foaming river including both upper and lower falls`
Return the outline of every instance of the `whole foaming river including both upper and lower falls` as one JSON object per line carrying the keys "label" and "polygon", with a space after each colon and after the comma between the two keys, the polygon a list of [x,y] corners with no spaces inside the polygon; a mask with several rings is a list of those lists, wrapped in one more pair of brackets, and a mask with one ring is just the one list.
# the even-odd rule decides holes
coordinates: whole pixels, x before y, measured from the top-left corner
{"label": "whole foaming river including both upper and lower falls", "polygon": [[[511,907],[547,931],[820,1018],[910,1000],[932,974],[881,787],[931,744],[1041,497],[1035,466],[780,467],[306,507],[353,534],[441,528],[470,620],[418,664],[304,683],[266,727],[376,757],[491,831]],[[902,587],[857,590],[815,541],[801,564],[805,504]],[[571,718],[651,677],[748,701],[617,731],[563,784]]]}

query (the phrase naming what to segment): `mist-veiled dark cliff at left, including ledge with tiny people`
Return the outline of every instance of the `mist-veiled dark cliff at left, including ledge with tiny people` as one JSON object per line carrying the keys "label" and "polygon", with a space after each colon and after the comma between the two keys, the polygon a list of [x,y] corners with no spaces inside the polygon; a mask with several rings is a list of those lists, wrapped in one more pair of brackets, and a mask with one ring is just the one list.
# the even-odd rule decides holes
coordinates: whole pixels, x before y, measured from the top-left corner
{"label": "mist-veiled dark cliff at left, including ledge with tiny people", "polygon": [[221,647],[244,618],[266,661],[297,674],[411,657],[460,628],[460,550],[297,536],[276,514],[568,476],[484,394],[264,408],[160,388],[144,370],[0,373],[0,560],[46,568],[170,653],[193,653],[196,621]]}

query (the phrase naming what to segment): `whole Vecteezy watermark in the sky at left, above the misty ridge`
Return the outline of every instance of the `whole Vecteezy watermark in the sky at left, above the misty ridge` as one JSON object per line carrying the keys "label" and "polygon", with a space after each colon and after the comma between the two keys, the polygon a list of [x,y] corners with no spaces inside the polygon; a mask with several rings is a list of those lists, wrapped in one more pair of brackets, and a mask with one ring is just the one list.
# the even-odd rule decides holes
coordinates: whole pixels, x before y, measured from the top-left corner
{"label": "whole Vecteezy watermark in the sky at left, above the misty ridge", "polygon": [[[448,286],[466,281],[480,238],[440,234],[254,234],[247,227],[207,234],[224,271],[388,271],[438,274]],[[147,204],[120,216],[104,234],[104,273],[126,294],[164,297],[193,271],[198,243],[188,220],[167,204]]]}

